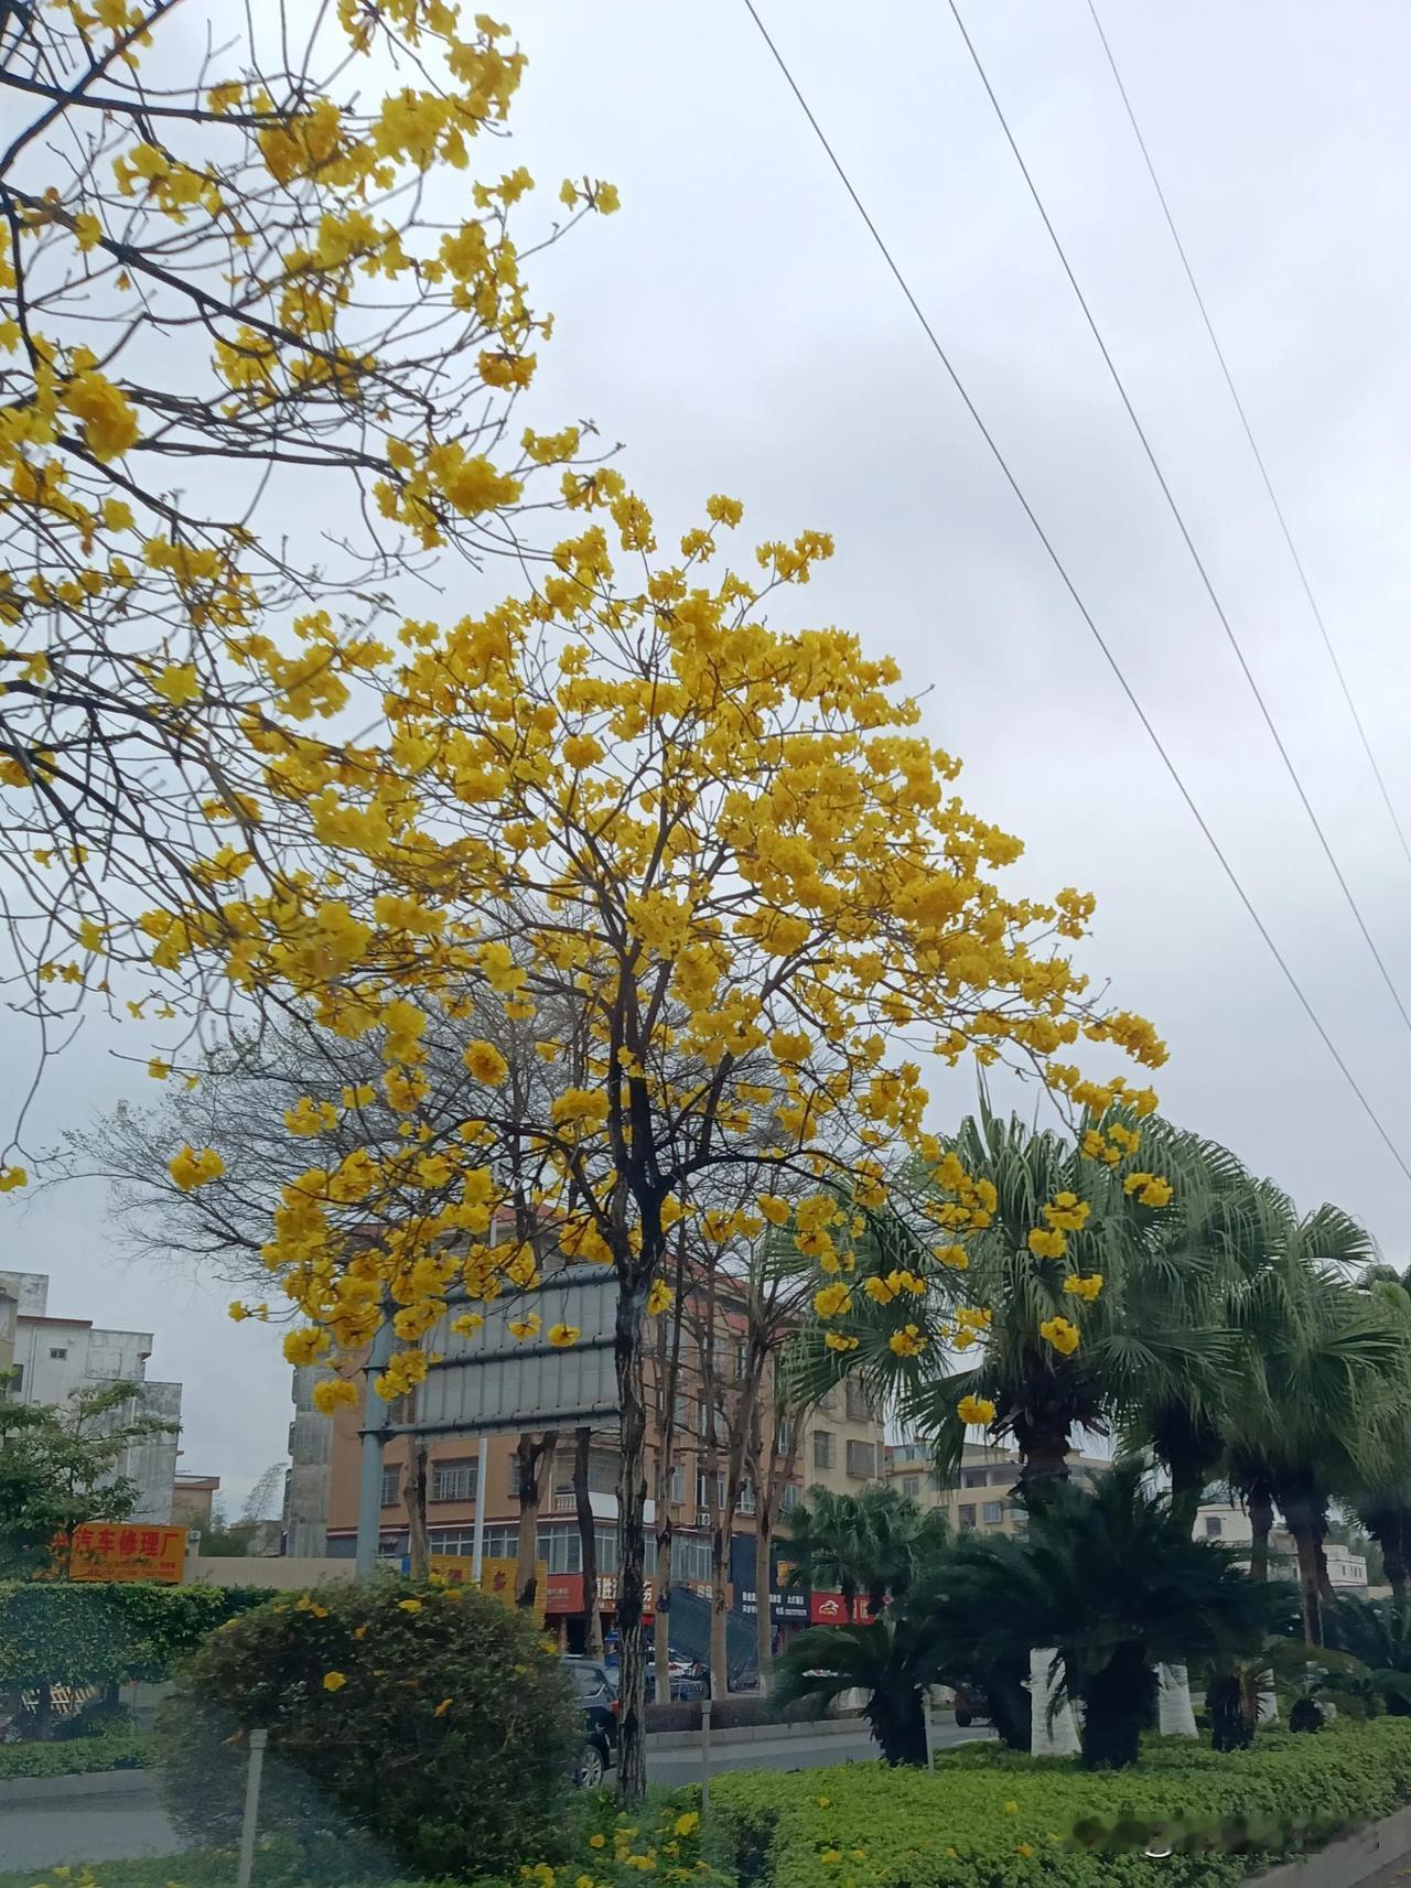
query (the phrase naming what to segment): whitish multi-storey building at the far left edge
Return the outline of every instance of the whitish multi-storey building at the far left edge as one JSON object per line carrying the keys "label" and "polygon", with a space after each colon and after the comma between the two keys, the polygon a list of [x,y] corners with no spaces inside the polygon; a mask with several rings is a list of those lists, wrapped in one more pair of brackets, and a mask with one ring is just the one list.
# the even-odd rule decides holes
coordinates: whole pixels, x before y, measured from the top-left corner
{"label": "whitish multi-storey building at the far left edge", "polygon": [[[151,1331],[106,1331],[91,1318],[57,1318],[49,1312],[45,1273],[0,1273],[0,1325],[8,1359],[6,1395],[19,1403],[62,1405],[76,1391],[104,1384],[134,1382],[132,1403],[113,1412],[121,1424],[138,1412],[181,1422],[181,1384],[147,1376]],[[115,1473],[138,1484],[132,1520],[170,1522],[176,1478],[178,1433],[142,1437],[128,1444]]]}

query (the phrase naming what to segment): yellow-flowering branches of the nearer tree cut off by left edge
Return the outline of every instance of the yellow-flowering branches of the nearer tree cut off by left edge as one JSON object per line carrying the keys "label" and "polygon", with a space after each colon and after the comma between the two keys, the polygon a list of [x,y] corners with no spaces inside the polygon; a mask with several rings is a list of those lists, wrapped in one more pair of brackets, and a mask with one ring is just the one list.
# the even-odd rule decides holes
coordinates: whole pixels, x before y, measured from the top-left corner
{"label": "yellow-flowering branches of the nearer tree cut off by left edge", "polygon": [[210,53],[176,0],[59,0],[0,45],[0,797],[42,1020],[106,993],[153,885],[219,914],[280,884],[266,768],[353,765],[315,731],[376,712],[399,582],[519,557],[582,459],[512,425],[552,329],[521,259],[616,194],[569,181],[521,230],[529,174],[472,176],[508,28],[259,19]]}

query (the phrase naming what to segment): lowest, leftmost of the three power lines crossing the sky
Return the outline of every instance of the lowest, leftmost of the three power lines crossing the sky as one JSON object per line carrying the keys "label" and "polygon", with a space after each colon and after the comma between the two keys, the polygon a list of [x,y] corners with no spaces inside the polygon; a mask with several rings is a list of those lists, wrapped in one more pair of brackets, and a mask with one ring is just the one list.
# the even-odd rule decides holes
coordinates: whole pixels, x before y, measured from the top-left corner
{"label": "lowest, leftmost of the three power lines crossing the sky", "polygon": [[1334,1038],[1324,1029],[1324,1025],[1322,1025],[1322,1021],[1318,1018],[1318,1012],[1313,1008],[1313,1004],[1309,1003],[1307,995],[1303,993],[1303,986],[1294,976],[1294,972],[1292,972],[1288,961],[1284,959],[1283,952],[1279,950],[1279,946],[1273,942],[1273,936],[1269,935],[1267,925],[1264,923],[1264,919],[1260,918],[1260,914],[1254,910],[1254,904],[1252,904],[1249,893],[1245,891],[1243,884],[1239,882],[1239,874],[1235,872],[1235,868],[1230,863],[1230,859],[1224,855],[1224,851],[1220,848],[1220,842],[1216,840],[1215,833],[1205,823],[1205,816],[1201,814],[1199,806],[1192,799],[1190,789],[1186,787],[1184,780],[1181,778],[1181,772],[1179,772],[1175,761],[1165,751],[1165,746],[1162,744],[1162,736],[1156,733],[1156,729],[1152,727],[1150,719],[1147,717],[1147,710],[1137,700],[1137,697],[1135,697],[1135,693],[1131,689],[1131,683],[1128,682],[1126,674],[1122,672],[1122,665],[1118,663],[1116,655],[1113,655],[1113,649],[1109,648],[1107,638],[1097,629],[1097,623],[1094,621],[1092,612],[1088,610],[1086,602],[1079,595],[1079,589],[1073,583],[1073,578],[1067,574],[1067,566],[1063,565],[1063,559],[1058,555],[1058,551],[1054,549],[1052,540],[1048,538],[1048,532],[1039,523],[1039,517],[1037,517],[1033,506],[1029,504],[1028,497],[1024,495],[1024,487],[1020,485],[1020,481],[1016,480],[1016,476],[1011,472],[1009,461],[1005,459],[1003,451],[999,449],[999,444],[995,442],[994,434],[990,432],[990,429],[986,427],[984,419],[980,417],[980,412],[975,406],[975,400],[971,398],[969,391],[965,389],[963,379],[956,372],[956,368],[954,368],[954,364],[950,361],[950,355],[941,346],[941,340],[937,338],[935,329],[926,319],[926,313],[922,312],[920,302],[912,295],[907,278],[901,274],[901,268],[897,266],[895,257],[888,249],[886,240],[882,238],[882,232],[878,230],[876,223],[873,223],[873,217],[871,217],[867,206],[863,204],[861,196],[854,189],[852,179],[848,177],[848,172],[842,168],[842,162],[841,162],[837,151],[827,142],[827,134],[824,132],[824,126],[818,123],[818,119],[812,113],[812,108],[810,108],[808,100],[799,91],[799,83],[793,77],[793,74],[790,72],[790,66],[788,66],[784,55],[780,53],[780,49],[774,45],[773,38],[769,36],[769,28],[765,26],[765,23],[759,19],[759,13],[756,11],[754,0],[744,0],[744,8],[746,8],[750,19],[759,28],[761,40],[769,47],[769,51],[771,51],[771,55],[774,59],[774,64],[782,72],[784,83],[793,93],[793,96],[795,96],[795,100],[799,104],[799,110],[808,119],[808,125],[810,125],[814,136],[818,138],[820,145],[824,147],[824,153],[827,155],[829,164],[837,172],[839,181],[842,183],[842,189],[852,198],[854,210],[858,211],[858,215],[867,225],[867,234],[876,244],[876,249],[878,249],[882,261],[886,262],[886,266],[890,268],[890,272],[892,272],[897,287],[905,295],[907,304],[909,304],[910,312],[916,315],[916,321],[920,323],[922,332],[926,334],[927,342],[931,344],[931,349],[935,351],[937,361],[946,370],[946,374],[950,378],[950,385],[960,395],[961,404],[965,406],[965,412],[975,421],[975,425],[977,425],[977,429],[980,432],[980,438],[990,447],[990,453],[992,453],[995,464],[999,466],[1001,474],[1005,476],[1005,483],[1009,485],[1009,489],[1018,498],[1018,502],[1020,502],[1020,506],[1024,510],[1024,515],[1028,517],[1029,525],[1033,527],[1035,536],[1039,538],[1039,544],[1043,544],[1045,551],[1048,553],[1048,561],[1052,563],[1054,570],[1058,572],[1058,576],[1060,576],[1060,580],[1063,583],[1063,589],[1069,593],[1069,597],[1073,598],[1073,604],[1075,604],[1079,615],[1088,625],[1088,631],[1090,631],[1094,642],[1097,644],[1097,648],[1101,649],[1103,659],[1107,661],[1107,666],[1113,670],[1113,676],[1116,678],[1118,687],[1122,689],[1122,693],[1126,695],[1128,702],[1131,704],[1131,712],[1137,716],[1137,719],[1141,721],[1143,729],[1147,731],[1147,736],[1150,738],[1150,744],[1156,748],[1156,753],[1160,755],[1162,765],[1165,767],[1167,774],[1171,776],[1171,782],[1173,782],[1177,793],[1186,802],[1186,808],[1190,810],[1192,819],[1199,827],[1199,831],[1205,836],[1205,842],[1209,844],[1209,848],[1215,853],[1215,857],[1220,861],[1220,868],[1224,870],[1224,876],[1230,880],[1230,885],[1233,887],[1235,897],[1245,906],[1245,910],[1247,910],[1247,914],[1249,914],[1254,929],[1258,931],[1258,935],[1267,944],[1273,961],[1279,965],[1279,969],[1284,974],[1284,980],[1288,982],[1288,987],[1298,997],[1298,1001],[1300,1001],[1300,1004],[1303,1008],[1303,1014],[1307,1016],[1307,1020],[1313,1023],[1313,1027],[1317,1029],[1318,1037],[1322,1038],[1322,1046],[1328,1050],[1328,1054],[1332,1055],[1332,1059],[1337,1063],[1337,1069],[1339,1069],[1343,1080],[1347,1082],[1347,1086],[1356,1095],[1358,1103],[1362,1104],[1364,1114],[1368,1116],[1368,1120],[1375,1127],[1377,1135],[1381,1137],[1383,1144],[1386,1146],[1386,1152],[1392,1155],[1392,1159],[1402,1169],[1402,1172],[1405,1174],[1405,1178],[1411,1180],[1411,1167],[1405,1163],[1400,1148],[1396,1146],[1396,1142],[1388,1135],[1386,1127],[1383,1125],[1381,1116],[1371,1106],[1371,1103],[1368,1101],[1366,1093],[1362,1091],[1362,1086],[1358,1084],[1356,1076],[1352,1074],[1352,1070],[1347,1067],[1347,1063],[1343,1061],[1341,1054],[1337,1052],[1337,1044],[1334,1042]]}

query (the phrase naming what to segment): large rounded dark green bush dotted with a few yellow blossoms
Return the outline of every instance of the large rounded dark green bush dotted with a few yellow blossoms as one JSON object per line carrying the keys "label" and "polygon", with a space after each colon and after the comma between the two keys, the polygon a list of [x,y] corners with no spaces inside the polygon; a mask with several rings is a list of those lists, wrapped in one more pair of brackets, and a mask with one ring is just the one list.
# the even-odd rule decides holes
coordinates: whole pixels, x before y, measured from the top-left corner
{"label": "large rounded dark green bush dotted with a few yellow blossoms", "polygon": [[217,1631],[159,1716],[193,1839],[238,1839],[255,1728],[270,1733],[261,1828],[310,1869],[493,1875],[563,1854],[580,1711],[550,1643],[499,1599],[385,1580]]}

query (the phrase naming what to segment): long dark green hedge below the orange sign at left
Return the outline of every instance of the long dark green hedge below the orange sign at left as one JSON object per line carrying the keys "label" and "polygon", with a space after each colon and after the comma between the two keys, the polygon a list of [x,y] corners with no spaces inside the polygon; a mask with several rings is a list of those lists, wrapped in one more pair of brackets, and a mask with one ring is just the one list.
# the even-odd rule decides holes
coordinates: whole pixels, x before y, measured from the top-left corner
{"label": "long dark green hedge below the orange sign at left", "polygon": [[166,1678],[217,1626],[270,1597],[151,1580],[0,1584],[0,1690]]}

